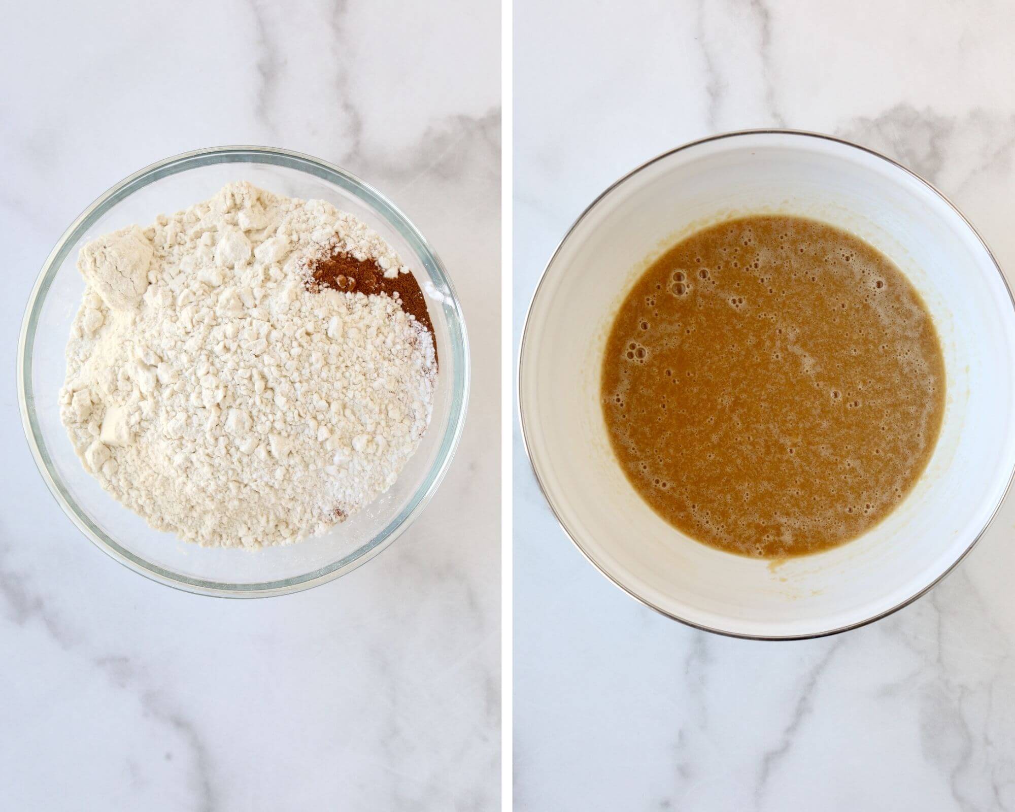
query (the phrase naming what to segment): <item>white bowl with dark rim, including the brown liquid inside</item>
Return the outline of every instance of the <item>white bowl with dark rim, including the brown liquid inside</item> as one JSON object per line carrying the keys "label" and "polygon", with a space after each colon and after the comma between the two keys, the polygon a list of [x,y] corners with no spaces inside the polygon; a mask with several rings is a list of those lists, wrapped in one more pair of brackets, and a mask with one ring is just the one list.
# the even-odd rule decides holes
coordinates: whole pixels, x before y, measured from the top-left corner
{"label": "white bowl with dark rim, including the brown liquid inside", "polygon": [[1013,362],[1008,285],[947,199],[857,145],[751,131],[585,211],[533,298],[519,402],[603,574],[703,629],[808,637],[904,606],[983,535],[1015,469]]}

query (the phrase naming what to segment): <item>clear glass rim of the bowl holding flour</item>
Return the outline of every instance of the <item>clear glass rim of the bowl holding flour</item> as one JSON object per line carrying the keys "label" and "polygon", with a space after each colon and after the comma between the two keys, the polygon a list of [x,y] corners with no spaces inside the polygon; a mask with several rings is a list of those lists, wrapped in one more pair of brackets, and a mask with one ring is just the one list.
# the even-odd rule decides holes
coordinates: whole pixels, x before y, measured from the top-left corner
{"label": "clear glass rim of the bowl holding flour", "polygon": [[[452,333],[452,357],[454,358],[452,368],[455,370],[452,381],[450,421],[444,436],[441,438],[433,466],[406,506],[368,542],[337,561],[332,561],[300,576],[242,585],[192,578],[174,572],[147,561],[109,538],[78,509],[76,501],[69,497],[60,485],[59,478],[55,476],[54,469],[49,463],[46,443],[36,419],[35,392],[31,387],[31,342],[35,338],[41,306],[53,283],[57,270],[70,253],[71,247],[98,217],[135,191],[161,178],[214,163],[267,163],[284,166],[312,175],[354,194],[409,243],[413,251],[419,254],[426,271],[433,273],[437,280],[447,287],[451,292],[450,306],[453,316],[449,319]],[[446,301],[446,303],[449,302]],[[110,187],[67,226],[43,263],[42,270],[29,293],[18,336],[16,375],[21,425],[36,466],[57,503],[77,529],[95,546],[129,569],[151,581],[184,592],[222,598],[266,598],[301,592],[346,574],[374,558],[408,529],[422,513],[444,480],[462,438],[468,411],[471,368],[465,317],[455,286],[436,251],[401,209],[369,184],[329,161],[280,147],[236,144],[193,149],[150,163]]]}

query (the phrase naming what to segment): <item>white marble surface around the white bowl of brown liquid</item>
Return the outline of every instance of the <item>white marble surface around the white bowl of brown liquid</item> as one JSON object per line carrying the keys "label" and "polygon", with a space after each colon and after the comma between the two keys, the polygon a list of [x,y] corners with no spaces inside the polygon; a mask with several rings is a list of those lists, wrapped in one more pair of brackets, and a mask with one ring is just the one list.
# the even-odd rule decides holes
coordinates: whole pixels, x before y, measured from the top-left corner
{"label": "white marble surface around the white bowl of brown liquid", "polygon": [[[609,183],[745,127],[912,166],[1015,280],[1015,7],[516,0],[516,339],[542,266]],[[1015,498],[893,617],[762,644],[642,608],[557,528],[515,444],[516,808],[1015,809]]]}

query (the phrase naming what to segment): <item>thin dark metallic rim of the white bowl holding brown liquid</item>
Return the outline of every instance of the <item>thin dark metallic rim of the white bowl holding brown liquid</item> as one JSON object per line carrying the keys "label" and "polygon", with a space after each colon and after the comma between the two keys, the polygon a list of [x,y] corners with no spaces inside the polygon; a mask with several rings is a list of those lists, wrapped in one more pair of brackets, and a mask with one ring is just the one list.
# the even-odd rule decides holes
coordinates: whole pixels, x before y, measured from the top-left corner
{"label": "thin dark metallic rim of the white bowl holding brown liquid", "polygon": [[540,489],[540,491],[543,494],[543,498],[546,499],[546,503],[549,505],[550,511],[553,514],[553,518],[557,522],[557,525],[564,532],[564,534],[567,536],[567,538],[570,539],[571,543],[578,548],[579,552],[582,553],[582,555],[585,557],[585,559],[587,561],[589,561],[589,563],[591,563],[594,567],[596,567],[596,569],[598,569],[599,572],[602,576],[604,576],[615,587],[619,588],[622,592],[624,592],[627,595],[629,595],[631,598],[633,598],[634,600],[636,600],[638,603],[640,603],[644,606],[647,606],[648,608],[650,608],[650,609],[658,612],[659,614],[663,615],[664,617],[667,617],[667,618],[669,618],[671,620],[676,620],[676,621],[678,621],[680,623],[683,623],[686,626],[690,626],[691,628],[695,628],[695,629],[698,629],[700,631],[708,631],[708,632],[712,632],[714,634],[721,634],[721,635],[726,636],[726,637],[735,637],[735,638],[738,638],[738,639],[750,639],[750,640],[779,641],[779,640],[815,639],[817,637],[826,637],[826,636],[830,636],[832,634],[839,634],[839,633],[841,633],[843,631],[850,631],[850,630],[855,629],[855,628],[860,628],[861,626],[866,626],[869,623],[873,623],[873,622],[875,622],[877,620],[881,620],[882,618],[888,617],[888,615],[894,614],[899,609],[903,609],[904,607],[906,607],[909,604],[911,604],[913,601],[922,598],[924,595],[926,595],[928,592],[930,592],[932,589],[934,589],[934,587],[936,587],[938,584],[940,584],[944,580],[944,578],[946,576],[948,576],[953,569],[955,569],[955,567],[958,566],[958,564],[962,561],[962,559],[965,558],[965,556],[969,554],[969,552],[972,550],[972,548],[976,546],[976,543],[979,541],[980,538],[983,538],[983,536],[987,532],[988,528],[994,522],[994,519],[997,516],[998,511],[1001,509],[1001,505],[1004,502],[1005,497],[1008,495],[1009,491],[1011,490],[1013,480],[1015,480],[1015,463],[1013,463],[1012,470],[1008,474],[1008,480],[1007,480],[1007,483],[1005,485],[1004,491],[1002,492],[1001,497],[998,499],[997,503],[991,510],[991,514],[988,517],[987,523],[984,525],[984,527],[975,534],[975,536],[972,538],[972,540],[969,542],[969,544],[965,547],[965,549],[962,550],[962,552],[955,558],[954,561],[952,561],[944,569],[944,571],[942,571],[939,576],[937,576],[937,578],[935,578],[933,581],[931,581],[931,583],[927,584],[925,587],[923,587],[922,589],[920,589],[918,592],[916,592],[915,594],[912,594],[911,596],[909,596],[908,598],[906,598],[904,601],[901,601],[900,603],[896,604],[895,606],[891,607],[890,609],[886,609],[886,610],[884,610],[882,612],[878,612],[878,613],[876,613],[874,615],[871,615],[870,617],[863,618],[862,620],[858,620],[858,621],[856,621],[854,623],[849,623],[847,625],[837,626],[837,627],[830,628],[830,629],[823,629],[821,631],[807,632],[807,633],[802,633],[802,634],[752,634],[752,633],[746,633],[746,632],[740,632],[740,631],[733,631],[733,630],[730,630],[730,629],[713,628],[710,626],[707,626],[707,625],[704,625],[704,624],[701,624],[701,623],[697,623],[697,622],[688,620],[685,617],[681,617],[681,616],[679,616],[678,614],[676,614],[674,612],[671,612],[671,611],[669,611],[667,609],[664,609],[664,608],[662,608],[660,606],[657,606],[652,601],[650,601],[650,600],[644,598],[642,596],[638,595],[636,592],[633,591],[633,589],[631,589],[631,588],[627,587],[626,585],[620,583],[620,581],[618,581],[616,578],[614,578],[613,574],[611,574],[609,571],[607,571],[606,567],[604,565],[602,565],[599,561],[597,561],[595,559],[595,557],[588,550],[585,549],[585,547],[582,545],[581,541],[579,541],[577,534],[574,532],[572,532],[566,526],[566,524],[564,523],[564,521],[561,519],[560,514],[558,513],[556,505],[554,505],[553,500],[550,498],[550,495],[549,495],[549,493],[547,491],[546,485],[543,482],[543,478],[540,476],[539,470],[537,469],[536,464],[535,464],[535,462],[533,460],[532,450],[530,449],[530,446],[529,446],[529,434],[528,434],[528,430],[526,428],[525,409],[524,409],[524,407],[522,405],[522,401],[523,401],[522,370],[523,370],[523,365],[524,365],[523,364],[523,360],[524,360],[525,351],[526,351],[526,340],[529,337],[530,319],[532,317],[533,308],[535,307],[536,300],[539,297],[539,293],[540,293],[540,291],[543,288],[543,283],[546,281],[547,274],[550,271],[550,268],[553,265],[554,261],[556,260],[557,255],[560,253],[561,248],[570,239],[572,232],[578,228],[578,226],[582,223],[582,221],[585,220],[586,216],[602,200],[604,200],[610,193],[612,193],[615,189],[617,189],[617,187],[621,186],[623,183],[625,183],[627,180],[629,180],[633,176],[635,176],[638,173],[640,173],[642,170],[648,168],[649,166],[653,165],[654,163],[656,163],[656,162],[658,162],[660,160],[664,160],[664,159],[670,157],[671,155],[677,154],[678,152],[683,152],[684,150],[691,149],[691,148],[693,148],[695,146],[700,146],[702,144],[707,144],[707,143],[712,143],[712,142],[715,142],[715,141],[721,141],[721,140],[726,140],[726,139],[734,139],[734,138],[738,138],[738,137],[742,137],[742,136],[756,136],[756,135],[762,135],[762,136],[763,135],[775,135],[775,136],[788,135],[788,136],[793,136],[793,137],[800,137],[802,139],[818,139],[818,140],[824,140],[824,141],[831,141],[833,143],[840,144],[842,146],[852,147],[852,148],[858,149],[858,150],[860,150],[862,152],[866,152],[869,155],[873,155],[876,158],[880,158],[881,160],[886,161],[887,163],[891,164],[892,166],[894,166],[894,167],[896,167],[898,170],[901,170],[906,175],[908,175],[911,178],[916,179],[921,185],[923,185],[924,187],[926,187],[926,189],[928,189],[933,195],[936,195],[938,198],[940,198],[956,215],[958,215],[959,219],[963,223],[965,223],[965,226],[969,229],[969,231],[972,233],[972,235],[976,239],[976,241],[983,247],[984,251],[987,252],[987,256],[990,257],[991,263],[994,265],[994,269],[997,271],[998,275],[1001,277],[1001,282],[1004,285],[1005,290],[1008,291],[1008,301],[1012,306],[1013,311],[1015,311],[1015,296],[1013,296],[1013,294],[1012,294],[1011,286],[1008,284],[1008,280],[1005,278],[1004,272],[1001,270],[1001,265],[998,263],[997,258],[994,256],[994,252],[991,251],[990,246],[988,246],[987,241],[984,240],[984,238],[979,233],[979,231],[976,230],[976,228],[973,226],[973,224],[962,213],[962,211],[958,208],[958,206],[956,206],[955,203],[953,203],[947,197],[947,195],[945,195],[941,190],[939,190],[936,186],[934,186],[928,180],[926,180],[925,178],[923,178],[922,176],[920,176],[919,174],[917,174],[916,172],[913,172],[912,170],[910,170],[908,166],[905,166],[904,164],[899,163],[897,160],[894,160],[893,158],[890,158],[887,155],[884,155],[881,152],[878,152],[877,150],[871,149],[871,148],[863,146],[861,144],[857,144],[857,143],[855,143],[853,141],[849,141],[849,140],[847,140],[844,138],[838,138],[836,136],[827,135],[825,133],[812,132],[810,130],[795,130],[795,129],[786,129],[786,128],[755,128],[755,129],[746,129],[746,130],[731,130],[729,132],[717,133],[715,135],[705,136],[704,138],[698,138],[698,139],[695,139],[693,141],[688,141],[686,143],[681,144],[680,146],[674,147],[673,149],[669,149],[669,150],[667,150],[665,152],[661,152],[660,154],[656,155],[655,157],[650,158],[649,160],[645,161],[644,163],[640,163],[639,165],[637,165],[634,168],[632,168],[630,172],[628,172],[625,175],[623,175],[620,178],[618,178],[616,181],[614,181],[609,186],[607,186],[600,194],[598,194],[595,197],[595,199],[588,206],[585,207],[585,209],[582,211],[582,213],[579,214],[578,218],[570,224],[570,226],[564,232],[564,235],[560,239],[560,242],[557,243],[556,248],[553,250],[553,253],[550,255],[549,260],[547,260],[546,265],[544,266],[543,271],[542,271],[542,273],[539,276],[539,281],[536,284],[536,287],[535,287],[535,289],[534,289],[534,291],[532,293],[532,298],[529,301],[528,310],[526,311],[525,320],[522,323],[522,338],[521,338],[521,341],[519,342],[518,367],[517,367],[517,373],[516,373],[516,378],[515,378],[516,387],[517,387],[517,391],[518,391],[518,395],[517,395],[518,419],[519,419],[519,423],[520,423],[521,429],[522,429],[522,446],[525,449],[525,454],[526,454],[526,457],[528,458],[528,461],[529,461],[529,467],[532,469],[532,472],[533,472],[533,474],[534,474],[534,476],[536,478],[536,483],[538,484],[539,489]]}

